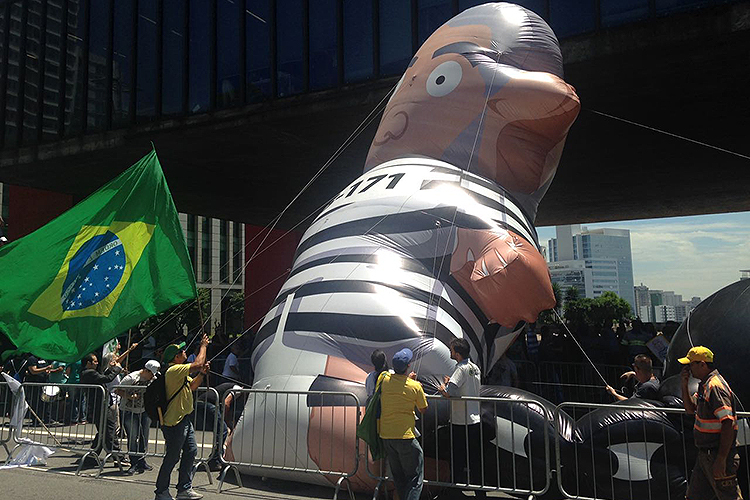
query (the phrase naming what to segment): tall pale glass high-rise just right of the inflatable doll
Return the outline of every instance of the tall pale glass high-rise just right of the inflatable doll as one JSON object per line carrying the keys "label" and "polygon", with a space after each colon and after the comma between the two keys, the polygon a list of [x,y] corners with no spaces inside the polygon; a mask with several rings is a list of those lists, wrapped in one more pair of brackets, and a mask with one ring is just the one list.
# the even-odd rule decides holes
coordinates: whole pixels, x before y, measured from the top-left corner
{"label": "tall pale glass high-rise just right of the inflatable doll", "polygon": [[614,292],[636,311],[630,231],[557,226],[556,238],[549,240],[547,248],[553,283],[565,288],[568,285],[562,279],[562,270],[580,269],[582,264],[583,269],[591,270],[590,285],[579,287],[587,291],[586,297],[597,298],[604,292]]}

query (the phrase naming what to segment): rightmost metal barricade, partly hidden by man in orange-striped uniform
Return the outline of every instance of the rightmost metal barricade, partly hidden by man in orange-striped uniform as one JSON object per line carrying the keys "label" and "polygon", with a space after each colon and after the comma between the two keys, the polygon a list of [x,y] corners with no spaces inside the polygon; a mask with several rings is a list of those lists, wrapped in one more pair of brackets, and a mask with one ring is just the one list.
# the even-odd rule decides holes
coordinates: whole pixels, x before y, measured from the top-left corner
{"label": "rightmost metal barricade, partly hidden by man in orange-striped uniform", "polygon": [[[555,439],[558,488],[576,500],[682,500],[696,462],[693,417],[681,408],[562,403],[555,419],[576,420],[572,442]],[[750,413],[737,412],[738,480],[748,494]]]}

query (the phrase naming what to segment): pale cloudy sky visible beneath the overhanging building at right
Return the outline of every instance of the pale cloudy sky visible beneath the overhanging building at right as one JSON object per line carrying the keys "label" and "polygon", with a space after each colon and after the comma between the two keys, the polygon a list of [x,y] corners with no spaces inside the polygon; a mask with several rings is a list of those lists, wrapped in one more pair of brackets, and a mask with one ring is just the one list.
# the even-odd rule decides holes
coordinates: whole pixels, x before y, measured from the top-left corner
{"label": "pale cloudy sky visible beneath the overhanging building at right", "polygon": [[[633,278],[683,299],[705,299],[750,269],[750,212],[583,224],[630,230]],[[539,227],[539,242],[555,237]]]}

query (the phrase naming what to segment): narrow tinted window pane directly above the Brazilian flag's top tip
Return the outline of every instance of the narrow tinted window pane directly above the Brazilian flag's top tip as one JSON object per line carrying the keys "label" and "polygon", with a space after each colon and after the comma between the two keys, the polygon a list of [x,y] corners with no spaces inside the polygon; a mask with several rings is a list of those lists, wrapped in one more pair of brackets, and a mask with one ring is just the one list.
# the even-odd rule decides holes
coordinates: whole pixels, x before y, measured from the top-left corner
{"label": "narrow tinted window pane directly above the Brazilian flag's top tip", "polygon": [[138,85],[136,115],[156,114],[156,2],[138,2]]}

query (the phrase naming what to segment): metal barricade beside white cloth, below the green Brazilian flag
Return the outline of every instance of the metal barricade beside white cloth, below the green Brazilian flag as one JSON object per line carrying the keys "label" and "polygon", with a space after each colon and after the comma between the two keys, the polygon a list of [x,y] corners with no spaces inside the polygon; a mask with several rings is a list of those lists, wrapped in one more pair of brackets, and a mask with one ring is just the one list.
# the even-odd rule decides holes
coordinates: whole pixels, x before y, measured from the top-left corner
{"label": "metal barricade beside white cloth, below the green Brazilian flag", "polygon": [[82,454],[81,465],[91,455],[101,465],[98,452],[109,445],[105,432],[109,398],[104,387],[39,382],[24,382],[21,387],[29,409],[21,432],[13,433],[16,446],[8,460],[30,442]]}

